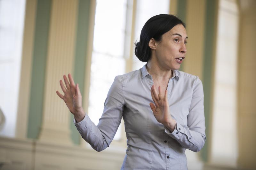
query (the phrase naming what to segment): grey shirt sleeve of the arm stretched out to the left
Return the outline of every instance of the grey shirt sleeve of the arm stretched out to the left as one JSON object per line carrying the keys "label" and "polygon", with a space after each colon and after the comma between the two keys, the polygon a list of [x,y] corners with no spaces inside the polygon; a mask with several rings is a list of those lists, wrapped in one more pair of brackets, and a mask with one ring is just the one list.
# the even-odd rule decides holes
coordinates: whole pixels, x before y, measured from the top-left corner
{"label": "grey shirt sleeve of the arm stretched out to the left", "polygon": [[[100,152],[112,142],[120,125],[124,111],[124,95],[122,77],[116,76],[104,103],[103,114],[96,126],[86,114],[81,122],[74,123],[83,137],[93,149]],[[93,114],[93,113],[92,113]]]}

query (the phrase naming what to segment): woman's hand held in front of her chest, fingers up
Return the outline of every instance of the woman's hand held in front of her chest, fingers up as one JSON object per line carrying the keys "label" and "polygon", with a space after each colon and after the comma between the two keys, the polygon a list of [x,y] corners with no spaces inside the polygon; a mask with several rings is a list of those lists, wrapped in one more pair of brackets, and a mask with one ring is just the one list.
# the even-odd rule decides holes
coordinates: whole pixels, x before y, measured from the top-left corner
{"label": "woman's hand held in front of her chest, fingers up", "polygon": [[151,87],[151,96],[156,106],[153,103],[149,103],[150,108],[153,111],[153,114],[157,120],[157,122],[162,123],[165,127],[174,130],[176,121],[172,119],[169,110],[169,103],[167,99],[167,90],[164,92],[164,96],[161,94],[161,87],[158,87],[158,92],[156,92],[155,86]]}

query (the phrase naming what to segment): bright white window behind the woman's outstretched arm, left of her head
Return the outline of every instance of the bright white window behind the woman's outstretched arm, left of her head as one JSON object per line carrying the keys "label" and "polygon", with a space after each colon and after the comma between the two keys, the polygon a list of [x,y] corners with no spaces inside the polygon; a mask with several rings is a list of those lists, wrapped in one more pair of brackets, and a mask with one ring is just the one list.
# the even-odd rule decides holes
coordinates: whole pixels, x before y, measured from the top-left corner
{"label": "bright white window behind the woman's outstretched arm, left of her head", "polygon": [[[125,73],[126,0],[97,0],[92,51],[88,114],[98,124],[108,90]],[[115,8],[113,8],[115,6]],[[115,140],[120,139],[118,128]]]}

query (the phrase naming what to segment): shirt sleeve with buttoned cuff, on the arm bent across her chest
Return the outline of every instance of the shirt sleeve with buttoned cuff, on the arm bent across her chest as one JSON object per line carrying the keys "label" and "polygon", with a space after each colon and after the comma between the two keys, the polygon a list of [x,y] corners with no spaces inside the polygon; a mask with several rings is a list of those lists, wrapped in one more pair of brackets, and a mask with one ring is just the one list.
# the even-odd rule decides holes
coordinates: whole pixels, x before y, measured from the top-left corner
{"label": "shirt sleeve with buttoned cuff, on the arm bent across her chest", "polygon": [[165,133],[177,140],[180,145],[194,152],[200,151],[205,143],[204,122],[204,91],[201,80],[196,77],[193,85],[193,95],[188,113],[188,126],[176,121],[176,127],[171,132],[164,127]]}

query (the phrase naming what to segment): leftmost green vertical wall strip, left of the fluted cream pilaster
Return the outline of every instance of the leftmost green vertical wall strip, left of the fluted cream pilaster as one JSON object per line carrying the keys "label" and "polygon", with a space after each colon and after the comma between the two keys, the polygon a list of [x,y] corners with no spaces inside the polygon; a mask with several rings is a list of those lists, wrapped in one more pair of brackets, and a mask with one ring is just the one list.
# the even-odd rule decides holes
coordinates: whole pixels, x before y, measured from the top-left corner
{"label": "leftmost green vertical wall strip, left of the fluted cream pilaster", "polygon": [[[38,0],[28,115],[28,138],[37,138],[42,124],[44,77],[47,57],[51,0]],[[22,89],[20,89],[22,90]]]}

